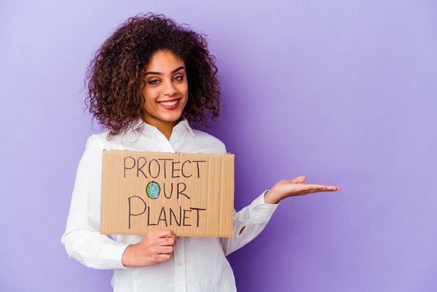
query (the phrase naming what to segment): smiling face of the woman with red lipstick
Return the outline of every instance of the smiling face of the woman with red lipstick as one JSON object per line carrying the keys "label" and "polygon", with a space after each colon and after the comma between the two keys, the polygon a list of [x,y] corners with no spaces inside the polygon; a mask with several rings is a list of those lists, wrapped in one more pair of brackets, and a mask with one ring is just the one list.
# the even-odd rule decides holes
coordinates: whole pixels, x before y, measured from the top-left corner
{"label": "smiling face of the woman with red lipstick", "polygon": [[172,52],[158,51],[152,55],[145,72],[144,121],[157,128],[164,124],[175,126],[188,98],[184,61]]}

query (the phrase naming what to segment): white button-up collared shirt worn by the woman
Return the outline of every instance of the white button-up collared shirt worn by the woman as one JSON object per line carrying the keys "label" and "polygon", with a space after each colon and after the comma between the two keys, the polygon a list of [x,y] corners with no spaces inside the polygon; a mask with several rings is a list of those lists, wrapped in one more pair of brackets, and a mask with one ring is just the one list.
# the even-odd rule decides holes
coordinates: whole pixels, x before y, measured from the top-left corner
{"label": "white button-up collared shirt worn by the woman", "polygon": [[[156,152],[225,153],[213,136],[179,122],[170,141],[156,127],[138,122],[126,133],[106,139],[108,132],[91,136],[77,168],[70,214],[62,243],[68,256],[90,268],[114,269],[117,292],[236,291],[226,255],[250,242],[266,226],[277,204],[267,204],[263,192],[243,210],[234,210],[233,238],[177,238],[170,260],[143,268],[124,267],[121,256],[141,236],[101,235],[101,166],[103,149]],[[244,228],[241,234],[239,232]]]}

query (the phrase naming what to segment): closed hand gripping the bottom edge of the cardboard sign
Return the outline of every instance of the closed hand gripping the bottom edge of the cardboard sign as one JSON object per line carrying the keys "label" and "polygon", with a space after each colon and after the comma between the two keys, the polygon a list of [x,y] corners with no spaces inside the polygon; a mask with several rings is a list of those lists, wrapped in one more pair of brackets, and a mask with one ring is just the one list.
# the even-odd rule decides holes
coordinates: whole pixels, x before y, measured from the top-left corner
{"label": "closed hand gripping the bottom edge of the cardboard sign", "polygon": [[124,266],[145,267],[168,261],[176,244],[170,230],[151,231],[137,244],[129,245],[121,258]]}

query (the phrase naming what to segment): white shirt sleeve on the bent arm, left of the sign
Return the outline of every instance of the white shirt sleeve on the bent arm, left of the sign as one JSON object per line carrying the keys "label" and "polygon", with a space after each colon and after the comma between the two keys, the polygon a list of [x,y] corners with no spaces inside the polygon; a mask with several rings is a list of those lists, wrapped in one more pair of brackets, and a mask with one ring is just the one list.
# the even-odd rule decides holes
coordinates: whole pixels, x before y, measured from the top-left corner
{"label": "white shirt sleeve on the bent arm, left of the sign", "polygon": [[121,257],[128,244],[100,234],[103,147],[91,136],[77,168],[66,231],[62,235],[68,256],[90,268],[125,268]]}

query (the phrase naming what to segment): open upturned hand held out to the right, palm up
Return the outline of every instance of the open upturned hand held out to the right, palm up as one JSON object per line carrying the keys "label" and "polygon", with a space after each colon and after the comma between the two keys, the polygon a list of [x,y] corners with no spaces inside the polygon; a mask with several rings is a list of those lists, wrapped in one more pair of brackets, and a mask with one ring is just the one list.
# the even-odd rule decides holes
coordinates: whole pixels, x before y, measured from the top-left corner
{"label": "open upturned hand held out to the right, palm up", "polygon": [[276,204],[283,198],[291,196],[303,196],[319,191],[339,191],[339,186],[327,186],[325,184],[304,184],[306,176],[301,175],[292,180],[280,180],[264,196],[265,203]]}

